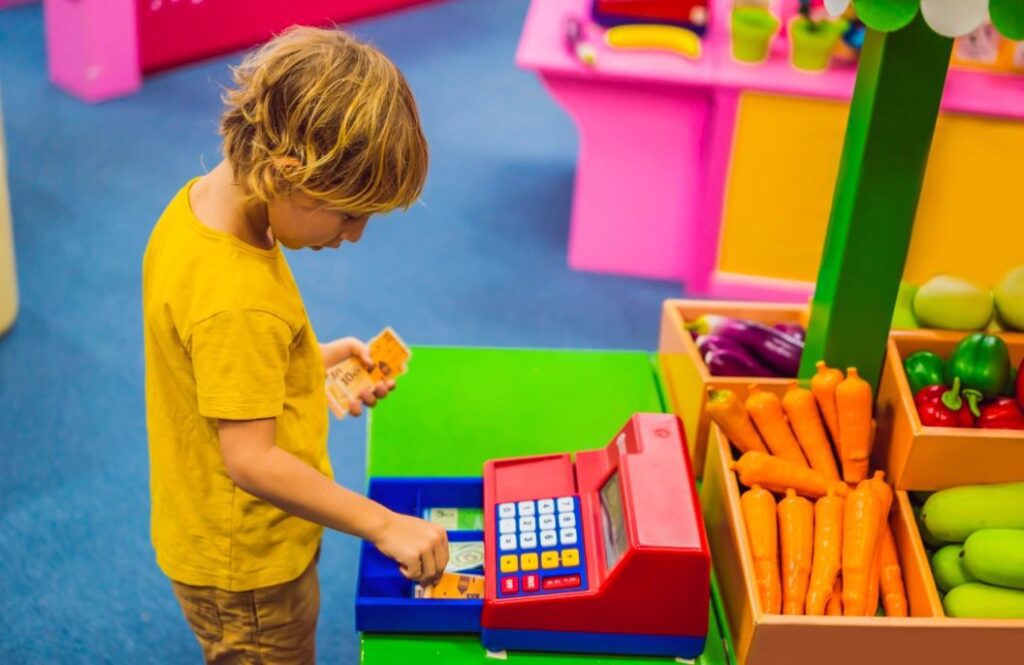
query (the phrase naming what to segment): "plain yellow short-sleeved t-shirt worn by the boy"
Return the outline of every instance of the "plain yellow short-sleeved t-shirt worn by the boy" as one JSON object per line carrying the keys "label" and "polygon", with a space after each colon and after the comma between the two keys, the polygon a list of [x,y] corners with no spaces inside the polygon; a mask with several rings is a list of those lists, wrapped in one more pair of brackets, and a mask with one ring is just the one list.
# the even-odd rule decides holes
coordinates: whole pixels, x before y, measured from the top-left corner
{"label": "plain yellow short-sleeved t-shirt worn by the boy", "polygon": [[142,260],[153,544],[172,580],[244,591],[297,578],[323,528],[234,485],[217,420],[276,418],[276,445],[333,477],[324,364],[280,246],[203,225],[193,182]]}

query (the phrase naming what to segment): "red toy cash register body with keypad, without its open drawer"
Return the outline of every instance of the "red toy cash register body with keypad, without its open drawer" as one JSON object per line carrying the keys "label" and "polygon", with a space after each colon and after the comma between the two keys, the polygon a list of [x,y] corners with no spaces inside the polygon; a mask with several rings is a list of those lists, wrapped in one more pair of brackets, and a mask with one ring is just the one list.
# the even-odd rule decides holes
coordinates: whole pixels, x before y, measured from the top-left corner
{"label": "red toy cash register body with keypad, without its open drawer", "polygon": [[679,419],[636,414],[604,449],[483,467],[481,640],[693,658],[711,559]]}

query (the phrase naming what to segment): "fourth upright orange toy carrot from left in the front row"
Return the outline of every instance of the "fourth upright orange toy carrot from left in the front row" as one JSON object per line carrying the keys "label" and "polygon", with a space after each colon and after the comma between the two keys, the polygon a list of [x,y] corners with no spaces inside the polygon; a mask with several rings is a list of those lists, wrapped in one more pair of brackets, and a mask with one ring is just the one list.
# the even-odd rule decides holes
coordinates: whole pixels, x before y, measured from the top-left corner
{"label": "fourth upright orange toy carrot from left in the front row", "polygon": [[843,509],[843,614],[862,617],[867,610],[868,577],[879,543],[882,506],[866,482],[846,498]]}

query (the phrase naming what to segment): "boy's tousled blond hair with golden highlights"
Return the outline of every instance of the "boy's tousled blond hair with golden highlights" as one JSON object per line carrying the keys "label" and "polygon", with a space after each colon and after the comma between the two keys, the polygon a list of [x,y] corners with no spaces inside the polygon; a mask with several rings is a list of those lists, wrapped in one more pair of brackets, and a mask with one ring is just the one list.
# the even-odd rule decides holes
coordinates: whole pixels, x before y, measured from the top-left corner
{"label": "boy's tousled blond hair with golden highlights", "polygon": [[419,198],[427,142],[404,77],[379,50],[340,30],[296,27],[233,73],[220,131],[253,200],[302,192],[369,214]]}

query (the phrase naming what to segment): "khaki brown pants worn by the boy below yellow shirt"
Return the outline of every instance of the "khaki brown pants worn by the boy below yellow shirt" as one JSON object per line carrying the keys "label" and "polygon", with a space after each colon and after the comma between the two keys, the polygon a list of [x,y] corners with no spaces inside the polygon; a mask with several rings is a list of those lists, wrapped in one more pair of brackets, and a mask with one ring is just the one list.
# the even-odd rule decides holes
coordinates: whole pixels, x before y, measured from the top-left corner
{"label": "khaki brown pants worn by the boy below yellow shirt", "polygon": [[314,665],[316,662],[319,581],[315,559],[297,579],[252,591],[172,584],[207,663]]}

